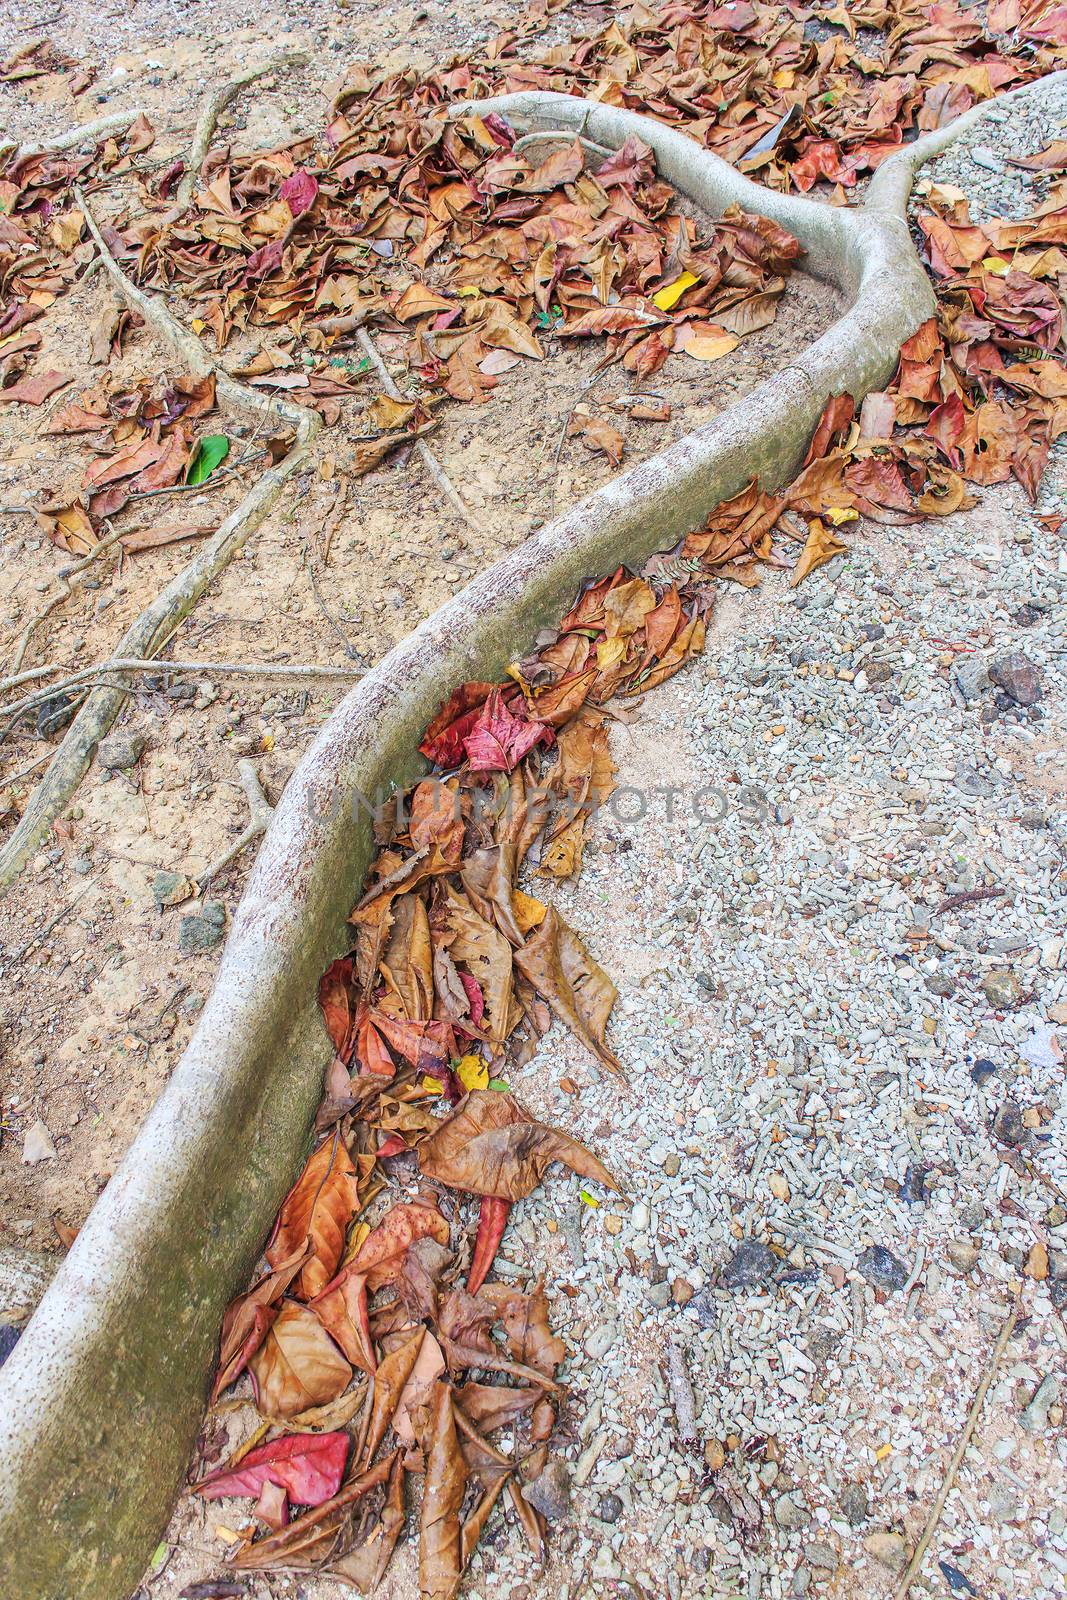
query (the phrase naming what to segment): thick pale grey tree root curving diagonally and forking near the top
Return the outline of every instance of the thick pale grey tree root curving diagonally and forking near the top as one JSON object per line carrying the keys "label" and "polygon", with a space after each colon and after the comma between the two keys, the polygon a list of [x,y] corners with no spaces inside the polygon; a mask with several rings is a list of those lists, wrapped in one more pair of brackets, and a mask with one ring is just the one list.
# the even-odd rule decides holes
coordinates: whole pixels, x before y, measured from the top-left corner
{"label": "thick pale grey tree root curving diagonally and forking near the top", "polygon": [[440,699],[462,678],[499,677],[582,578],[669,547],[752,475],[787,482],[827,395],[883,386],[933,314],[902,214],[905,162],[870,206],[846,213],[763,190],[649,118],[520,99],[522,115],[501,106],[520,131],[539,114],[609,147],[640,133],[689,198],[781,221],[851,309],[721,416],[454,595],[352,690],[293,773],[197,1032],[0,1371],[0,1590],[19,1600],[115,1600],[166,1525],[222,1309],[299,1165],[331,1056],[317,984],[347,949],[373,848],[368,810],[350,800],[411,782]]}

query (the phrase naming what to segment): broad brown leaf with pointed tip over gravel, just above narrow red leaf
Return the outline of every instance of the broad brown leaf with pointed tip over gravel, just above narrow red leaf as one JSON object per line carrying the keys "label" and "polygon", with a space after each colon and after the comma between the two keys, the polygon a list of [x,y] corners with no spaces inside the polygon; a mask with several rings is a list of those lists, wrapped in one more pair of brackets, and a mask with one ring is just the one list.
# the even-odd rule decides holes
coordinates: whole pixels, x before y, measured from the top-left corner
{"label": "broad brown leaf with pointed tip over gravel, just above narrow red leaf", "polygon": [[438,1131],[419,1144],[418,1155],[427,1178],[499,1200],[523,1200],[552,1162],[563,1162],[579,1178],[608,1189],[619,1187],[584,1144],[536,1122],[514,1094],[501,1090],[472,1090]]}

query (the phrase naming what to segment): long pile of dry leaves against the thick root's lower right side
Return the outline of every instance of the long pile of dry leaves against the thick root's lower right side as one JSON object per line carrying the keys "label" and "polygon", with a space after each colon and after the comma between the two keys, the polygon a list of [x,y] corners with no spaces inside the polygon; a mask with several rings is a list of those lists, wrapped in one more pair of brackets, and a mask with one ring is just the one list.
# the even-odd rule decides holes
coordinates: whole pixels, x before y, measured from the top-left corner
{"label": "long pile of dry leaves against the thick root's lower right side", "polygon": [[[558,1514],[545,1485],[565,1347],[544,1286],[490,1272],[512,1205],[553,1162],[616,1184],[501,1074],[552,1013],[621,1067],[605,1040],[611,979],[518,875],[579,869],[587,819],[614,787],[606,702],[702,648],[710,594],[688,566],[681,581],[616,571],[504,683],[462,683],[421,746],[435,774],[376,819],[354,949],[320,984],[336,1051],[320,1142],[267,1270],[222,1326],[213,1398],[246,1371],[262,1426],[197,1490],[258,1496],[270,1530],[232,1534],[237,1566],[325,1570],[370,1592],[410,1475],[422,1480],[426,1597],[456,1594],[504,1491],[542,1550],[542,1512]],[[384,1190],[392,1203],[371,1227]],[[466,1197],[478,1200],[474,1242]]]}

